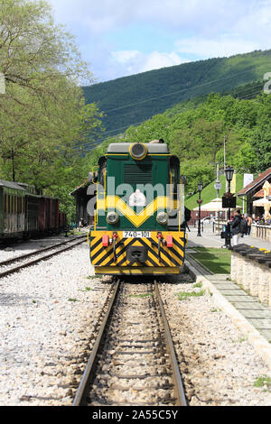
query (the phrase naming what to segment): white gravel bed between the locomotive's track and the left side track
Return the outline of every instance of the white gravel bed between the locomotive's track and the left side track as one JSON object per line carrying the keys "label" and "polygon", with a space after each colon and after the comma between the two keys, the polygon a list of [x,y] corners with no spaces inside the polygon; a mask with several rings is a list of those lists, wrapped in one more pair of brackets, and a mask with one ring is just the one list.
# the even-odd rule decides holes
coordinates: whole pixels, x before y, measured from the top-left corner
{"label": "white gravel bed between the locomotive's track and the left side track", "polygon": [[0,280],[0,404],[70,405],[111,279],[87,244]]}

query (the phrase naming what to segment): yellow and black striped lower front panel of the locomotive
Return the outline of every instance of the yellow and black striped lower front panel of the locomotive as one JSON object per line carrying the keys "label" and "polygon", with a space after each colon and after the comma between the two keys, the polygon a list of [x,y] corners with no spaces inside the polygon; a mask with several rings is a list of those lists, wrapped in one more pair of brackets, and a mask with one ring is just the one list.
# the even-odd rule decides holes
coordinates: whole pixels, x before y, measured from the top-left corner
{"label": "yellow and black striped lower front panel of the locomotive", "polygon": [[[112,232],[92,231],[89,237],[90,261],[96,273],[179,273],[184,261],[184,232],[162,232],[173,236],[173,247],[164,244],[158,249],[157,232],[151,232],[149,238],[123,238],[123,232],[117,232],[115,254],[113,244],[102,245],[102,236],[112,237]],[[127,248],[130,246],[145,247],[147,259],[145,263],[129,262]]]}

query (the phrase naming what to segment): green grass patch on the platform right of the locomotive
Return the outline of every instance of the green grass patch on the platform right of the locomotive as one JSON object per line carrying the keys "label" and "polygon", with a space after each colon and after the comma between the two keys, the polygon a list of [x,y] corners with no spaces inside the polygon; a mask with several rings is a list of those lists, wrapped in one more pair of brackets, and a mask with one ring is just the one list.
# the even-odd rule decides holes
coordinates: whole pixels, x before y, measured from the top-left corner
{"label": "green grass patch on the platform right of the locomotive", "polygon": [[190,253],[193,258],[216,274],[230,273],[231,252],[228,249],[215,247],[194,247],[196,253]]}

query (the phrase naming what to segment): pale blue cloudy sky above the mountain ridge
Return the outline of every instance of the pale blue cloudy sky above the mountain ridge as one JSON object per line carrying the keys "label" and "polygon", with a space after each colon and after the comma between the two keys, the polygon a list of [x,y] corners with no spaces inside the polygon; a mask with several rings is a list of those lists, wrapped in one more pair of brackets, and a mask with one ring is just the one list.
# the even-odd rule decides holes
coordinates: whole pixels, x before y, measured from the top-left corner
{"label": "pale blue cloudy sky above the mountain ridge", "polygon": [[[271,48],[271,0],[49,0],[96,82]],[[271,69],[270,69],[271,70]]]}

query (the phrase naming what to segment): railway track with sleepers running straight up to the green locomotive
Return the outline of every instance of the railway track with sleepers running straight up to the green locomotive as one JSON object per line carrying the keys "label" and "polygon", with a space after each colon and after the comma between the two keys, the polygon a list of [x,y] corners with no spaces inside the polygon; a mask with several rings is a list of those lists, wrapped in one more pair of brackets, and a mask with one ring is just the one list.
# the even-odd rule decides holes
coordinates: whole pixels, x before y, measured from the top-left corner
{"label": "railway track with sleepers running straight up to the green locomotive", "polygon": [[73,406],[186,406],[159,285],[117,281]]}

